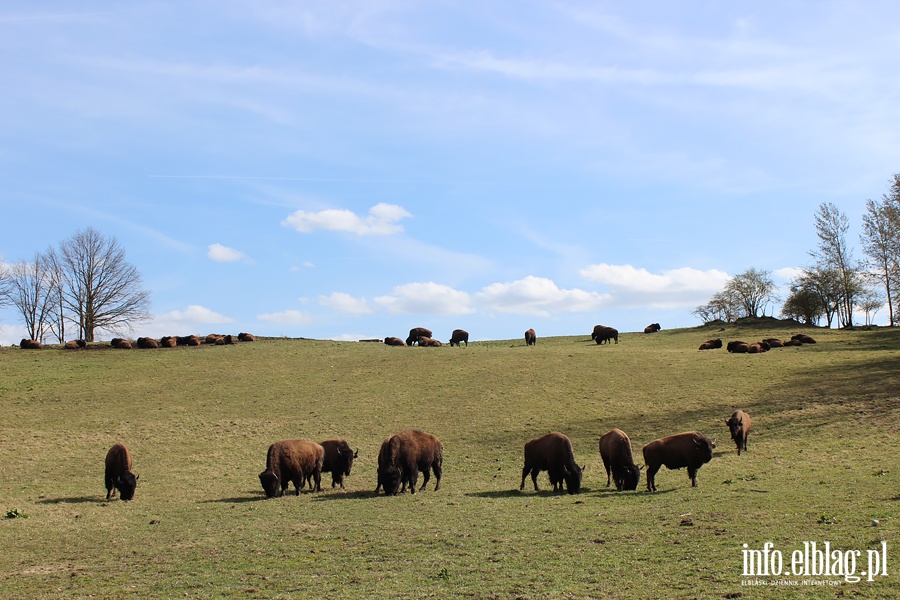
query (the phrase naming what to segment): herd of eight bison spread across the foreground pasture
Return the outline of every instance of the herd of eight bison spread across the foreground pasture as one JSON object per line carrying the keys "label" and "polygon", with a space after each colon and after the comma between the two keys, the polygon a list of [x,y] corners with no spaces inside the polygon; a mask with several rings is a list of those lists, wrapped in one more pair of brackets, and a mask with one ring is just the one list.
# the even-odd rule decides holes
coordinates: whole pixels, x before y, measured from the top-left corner
{"label": "herd of eight bison spread across the foreground pasture", "polygon": [[[750,415],[736,410],[725,419],[731,438],[737,445],[738,456],[747,451],[750,433]],[[647,469],[647,491],[656,491],[656,474],[661,467],[687,468],[691,485],[697,487],[697,470],[712,460],[715,442],[699,431],[689,431],[654,440],[643,447],[644,465],[634,463],[631,440],[621,429],[612,429],[600,436],[600,458],[606,469],[606,487],[614,483],[617,491],[636,490],[641,470]],[[331,473],[331,487],[344,489],[344,478],[350,476],[353,461],[359,457],[359,449],[353,450],[343,439],[329,439],[320,443],[309,440],[281,440],[269,446],[266,452],[266,468],[259,474],[266,498],[283,496],[294,484],[294,492],[309,487],[313,492],[322,491],[322,473]],[[554,492],[564,489],[569,494],[581,491],[585,465],[578,465],[572,441],[562,433],[551,432],[525,443],[522,481],[519,491],[524,491],[525,480],[531,476],[534,491],[540,491],[538,475],[546,471]],[[425,489],[434,474],[434,491],[441,488],[444,446],[430,433],[407,429],[386,438],[378,450],[377,485],[375,493],[395,496],[416,493],[419,473]],[[134,498],[138,476],[132,469],[131,453],[121,443],[109,449],[104,462],[106,499]]]}

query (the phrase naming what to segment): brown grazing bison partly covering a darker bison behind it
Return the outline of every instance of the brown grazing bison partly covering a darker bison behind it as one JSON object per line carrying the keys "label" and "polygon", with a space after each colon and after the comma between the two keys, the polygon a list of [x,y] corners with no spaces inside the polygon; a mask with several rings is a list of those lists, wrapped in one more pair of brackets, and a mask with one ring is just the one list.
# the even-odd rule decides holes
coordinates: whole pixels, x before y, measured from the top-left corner
{"label": "brown grazing bison partly covering a darker bison behind it", "polygon": [[283,496],[291,482],[300,495],[307,475],[312,475],[314,491],[322,491],[322,464],[325,449],[307,440],[282,440],[269,446],[266,454],[266,470],[259,474],[266,498]]}

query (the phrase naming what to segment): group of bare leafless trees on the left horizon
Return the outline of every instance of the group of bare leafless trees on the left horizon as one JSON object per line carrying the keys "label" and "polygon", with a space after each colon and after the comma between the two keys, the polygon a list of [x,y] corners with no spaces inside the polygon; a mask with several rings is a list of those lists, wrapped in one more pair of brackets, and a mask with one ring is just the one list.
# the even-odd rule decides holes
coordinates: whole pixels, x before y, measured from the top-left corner
{"label": "group of bare leafless trees on the left horizon", "polygon": [[31,261],[0,261],[0,306],[12,305],[30,339],[65,343],[93,342],[96,331],[123,332],[150,318],[150,292],[125,260],[116,238],[92,227],[77,231],[57,247],[37,252]]}

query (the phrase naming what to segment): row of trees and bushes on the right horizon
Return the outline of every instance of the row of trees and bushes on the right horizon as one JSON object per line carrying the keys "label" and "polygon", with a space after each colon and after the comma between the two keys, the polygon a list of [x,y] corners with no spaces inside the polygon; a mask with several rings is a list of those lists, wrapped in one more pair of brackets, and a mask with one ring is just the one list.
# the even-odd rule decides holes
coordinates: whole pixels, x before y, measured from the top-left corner
{"label": "row of trees and bushes on the right horizon", "polygon": [[[900,173],[895,173],[888,191],[879,200],[866,200],[859,234],[864,257],[853,256],[847,235],[847,215],[831,202],[819,205],[815,214],[817,247],[809,251],[812,262],[794,277],[781,306],[781,316],[801,323],[828,328],[853,327],[855,312],[865,314],[866,325],[885,305],[888,326],[900,321]],[[758,317],[780,298],[771,272],[750,269],[735,275],[725,288],[713,294],[691,314],[704,323],[734,322]]]}

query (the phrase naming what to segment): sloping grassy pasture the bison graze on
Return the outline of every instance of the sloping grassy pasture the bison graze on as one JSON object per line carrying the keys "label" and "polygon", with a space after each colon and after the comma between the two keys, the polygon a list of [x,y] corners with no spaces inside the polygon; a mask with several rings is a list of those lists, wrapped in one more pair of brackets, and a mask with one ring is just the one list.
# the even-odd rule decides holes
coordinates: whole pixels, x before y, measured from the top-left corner
{"label": "sloping grassy pasture the bison graze on", "polygon": [[[731,355],[696,328],[476,342],[468,348],[263,339],[159,350],[0,348],[3,598],[895,597],[900,331],[813,330],[816,345]],[[754,419],[737,456],[723,420]],[[441,490],[376,496],[381,441],[420,428],[444,444]],[[717,438],[691,488],[606,488],[597,448]],[[519,491],[522,447],[568,435],[582,493]],[[270,443],[343,437],[347,489],[266,500]],[[132,502],[105,500],[103,458],[125,443]],[[293,489],[293,488],[292,488]],[[877,521],[877,524],[873,523]],[[888,576],[743,574],[744,544],[790,568],[804,542],[887,547]],[[849,555],[847,555],[849,556]],[[783,583],[777,586],[747,583]],[[815,585],[824,583],[824,585]],[[794,585],[796,584],[796,585]]]}

